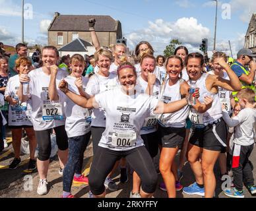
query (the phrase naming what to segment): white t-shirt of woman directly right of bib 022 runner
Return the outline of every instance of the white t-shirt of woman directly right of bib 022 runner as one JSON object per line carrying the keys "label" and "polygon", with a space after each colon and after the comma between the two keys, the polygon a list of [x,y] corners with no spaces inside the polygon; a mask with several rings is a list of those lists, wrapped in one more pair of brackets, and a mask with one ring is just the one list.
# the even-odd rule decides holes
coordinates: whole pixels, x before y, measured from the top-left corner
{"label": "white t-shirt of woman directly right of bib 022 runner", "polygon": [[[69,83],[69,90],[79,94],[79,90],[75,85],[77,78],[69,75],[65,80]],[[82,76],[82,84],[85,90],[88,83],[88,78]],[[79,94],[80,95],[80,94]],[[86,108],[75,104],[69,97],[67,97],[61,90],[59,90],[61,102],[64,104],[64,113],[66,116],[65,130],[69,138],[75,136],[82,136],[90,132],[90,111]]]}

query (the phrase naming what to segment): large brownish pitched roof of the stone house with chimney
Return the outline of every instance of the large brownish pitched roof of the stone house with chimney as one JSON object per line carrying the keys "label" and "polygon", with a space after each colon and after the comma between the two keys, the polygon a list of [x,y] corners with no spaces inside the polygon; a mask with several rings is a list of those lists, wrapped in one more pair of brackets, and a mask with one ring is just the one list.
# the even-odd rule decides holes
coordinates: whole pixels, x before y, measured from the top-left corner
{"label": "large brownish pitched roof of the stone house with chimney", "polygon": [[107,15],[60,15],[55,16],[48,31],[89,31],[88,20],[95,18],[95,30],[98,32],[116,32],[118,20]]}

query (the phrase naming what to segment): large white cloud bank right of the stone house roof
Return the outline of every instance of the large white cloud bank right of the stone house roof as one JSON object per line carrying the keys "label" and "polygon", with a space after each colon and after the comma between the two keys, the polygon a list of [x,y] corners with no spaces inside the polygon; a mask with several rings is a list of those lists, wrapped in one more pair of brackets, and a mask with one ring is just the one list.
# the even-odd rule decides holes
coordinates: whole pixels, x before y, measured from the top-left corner
{"label": "large white cloud bank right of the stone house roof", "polygon": [[137,30],[125,35],[130,49],[135,49],[135,45],[146,40],[153,45],[156,55],[162,54],[166,45],[172,39],[179,39],[182,44],[199,46],[203,38],[210,36],[210,30],[197,22],[196,18],[179,18],[176,22],[166,22],[157,19],[148,22],[148,28]]}

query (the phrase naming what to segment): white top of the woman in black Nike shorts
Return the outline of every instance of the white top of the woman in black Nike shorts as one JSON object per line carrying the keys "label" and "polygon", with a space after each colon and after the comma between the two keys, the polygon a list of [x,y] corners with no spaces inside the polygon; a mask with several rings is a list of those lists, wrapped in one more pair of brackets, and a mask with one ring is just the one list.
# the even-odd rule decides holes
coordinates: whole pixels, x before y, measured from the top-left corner
{"label": "white top of the woman in black Nike shorts", "polygon": [[[169,79],[166,81],[164,86],[164,92],[161,94],[161,101],[165,104],[169,104],[170,102],[176,102],[177,100],[181,100],[180,94],[180,86],[181,80],[178,80],[176,84],[170,86]],[[184,106],[174,113],[164,113],[159,118],[159,123],[162,127],[185,127],[186,119],[189,115],[189,106]]]}

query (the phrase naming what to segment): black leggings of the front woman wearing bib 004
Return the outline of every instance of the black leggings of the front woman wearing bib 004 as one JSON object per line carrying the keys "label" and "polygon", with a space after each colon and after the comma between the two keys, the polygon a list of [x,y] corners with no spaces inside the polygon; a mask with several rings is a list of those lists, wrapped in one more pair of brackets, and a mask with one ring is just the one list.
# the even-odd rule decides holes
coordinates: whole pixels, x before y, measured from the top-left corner
{"label": "black leggings of the front woman wearing bib 004", "polygon": [[158,175],[144,146],[139,146],[128,151],[114,151],[98,146],[92,166],[90,168],[89,186],[93,195],[102,195],[105,191],[104,181],[108,173],[113,169],[115,162],[125,157],[130,166],[141,178],[141,189],[145,193],[154,193]]}

